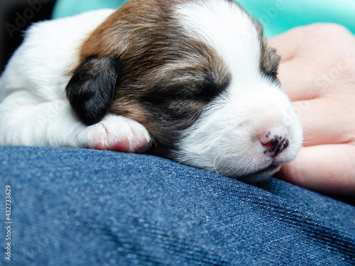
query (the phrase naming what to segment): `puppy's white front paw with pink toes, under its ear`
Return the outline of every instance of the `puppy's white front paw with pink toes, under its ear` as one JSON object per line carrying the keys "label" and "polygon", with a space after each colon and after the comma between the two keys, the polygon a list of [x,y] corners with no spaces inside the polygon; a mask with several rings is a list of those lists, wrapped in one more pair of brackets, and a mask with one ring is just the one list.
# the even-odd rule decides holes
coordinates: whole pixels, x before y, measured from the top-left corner
{"label": "puppy's white front paw with pink toes, under its ear", "polygon": [[148,131],[140,123],[108,114],[99,123],[86,129],[89,148],[116,150],[123,153],[143,153],[151,148]]}

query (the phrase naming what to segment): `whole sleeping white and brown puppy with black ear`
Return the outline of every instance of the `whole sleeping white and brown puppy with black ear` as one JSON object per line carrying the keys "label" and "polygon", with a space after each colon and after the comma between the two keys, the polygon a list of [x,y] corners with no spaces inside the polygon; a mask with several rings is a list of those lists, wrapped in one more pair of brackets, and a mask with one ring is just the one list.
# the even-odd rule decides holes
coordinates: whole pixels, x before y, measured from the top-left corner
{"label": "whole sleeping white and brown puppy with black ear", "polygon": [[0,144],[147,152],[266,179],[302,143],[278,63],[229,0],[132,0],[36,23],[0,79]]}

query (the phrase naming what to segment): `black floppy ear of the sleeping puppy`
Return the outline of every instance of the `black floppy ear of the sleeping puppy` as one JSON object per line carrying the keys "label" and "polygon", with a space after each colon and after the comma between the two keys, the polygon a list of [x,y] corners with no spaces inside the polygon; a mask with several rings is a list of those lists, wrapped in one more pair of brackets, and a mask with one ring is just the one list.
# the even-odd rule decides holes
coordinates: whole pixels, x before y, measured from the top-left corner
{"label": "black floppy ear of the sleeping puppy", "polygon": [[75,70],[67,84],[67,99],[87,126],[101,121],[109,111],[118,75],[119,60],[109,57],[89,57]]}

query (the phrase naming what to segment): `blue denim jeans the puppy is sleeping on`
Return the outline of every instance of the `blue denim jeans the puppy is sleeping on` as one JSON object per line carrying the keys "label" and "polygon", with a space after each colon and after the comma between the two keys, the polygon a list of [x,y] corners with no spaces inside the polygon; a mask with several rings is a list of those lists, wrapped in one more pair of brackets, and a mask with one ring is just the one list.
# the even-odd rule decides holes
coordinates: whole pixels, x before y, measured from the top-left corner
{"label": "blue denim jeans the puppy is sleeping on", "polygon": [[0,265],[355,265],[355,207],[278,179],[256,187],[149,155],[0,147],[0,186]]}

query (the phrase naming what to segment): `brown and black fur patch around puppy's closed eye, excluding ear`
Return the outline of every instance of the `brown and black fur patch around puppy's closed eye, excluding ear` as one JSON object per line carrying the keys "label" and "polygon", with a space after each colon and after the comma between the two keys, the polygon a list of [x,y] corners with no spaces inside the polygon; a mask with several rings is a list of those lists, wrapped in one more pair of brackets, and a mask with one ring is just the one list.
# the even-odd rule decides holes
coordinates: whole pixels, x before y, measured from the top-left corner
{"label": "brown and black fur patch around puppy's closed eye, excluding ear", "polygon": [[82,45],[87,57],[120,62],[109,111],[132,118],[165,155],[229,84],[230,75],[213,48],[182,31],[173,6],[185,1],[132,0],[114,12]]}

